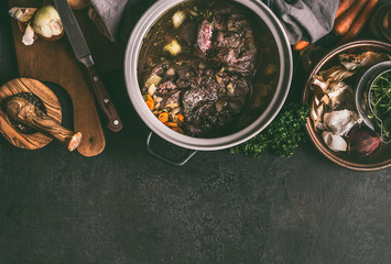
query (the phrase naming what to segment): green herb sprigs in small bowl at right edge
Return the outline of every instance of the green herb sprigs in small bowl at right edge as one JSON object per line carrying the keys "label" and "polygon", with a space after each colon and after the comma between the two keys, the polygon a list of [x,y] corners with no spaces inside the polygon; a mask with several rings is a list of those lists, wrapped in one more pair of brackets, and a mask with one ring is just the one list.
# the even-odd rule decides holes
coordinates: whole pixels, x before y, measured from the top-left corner
{"label": "green herb sprigs in small bowl at right edge", "polygon": [[383,135],[389,139],[391,136],[391,72],[379,76],[373,82],[370,103],[373,116],[369,116],[369,118],[382,129]]}

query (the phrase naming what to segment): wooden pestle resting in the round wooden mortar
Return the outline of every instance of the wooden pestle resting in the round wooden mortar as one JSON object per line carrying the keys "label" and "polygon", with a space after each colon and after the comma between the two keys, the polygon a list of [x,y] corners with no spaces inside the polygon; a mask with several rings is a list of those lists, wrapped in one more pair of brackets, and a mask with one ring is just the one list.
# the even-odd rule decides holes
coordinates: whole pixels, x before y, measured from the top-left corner
{"label": "wooden pestle resting in the round wooden mortar", "polygon": [[59,140],[69,152],[76,150],[80,144],[80,132],[74,132],[62,127],[25,98],[18,95],[8,98],[4,101],[4,110],[15,121]]}

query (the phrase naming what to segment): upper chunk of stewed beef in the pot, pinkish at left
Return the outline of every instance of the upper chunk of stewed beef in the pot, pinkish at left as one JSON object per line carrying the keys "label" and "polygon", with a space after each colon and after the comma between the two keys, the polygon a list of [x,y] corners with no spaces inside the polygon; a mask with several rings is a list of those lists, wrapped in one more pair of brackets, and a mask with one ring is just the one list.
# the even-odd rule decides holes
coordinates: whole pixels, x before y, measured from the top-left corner
{"label": "upper chunk of stewed beef in the pot, pinkish at left", "polygon": [[257,45],[250,22],[233,6],[221,6],[199,25],[196,54],[228,70],[252,75]]}

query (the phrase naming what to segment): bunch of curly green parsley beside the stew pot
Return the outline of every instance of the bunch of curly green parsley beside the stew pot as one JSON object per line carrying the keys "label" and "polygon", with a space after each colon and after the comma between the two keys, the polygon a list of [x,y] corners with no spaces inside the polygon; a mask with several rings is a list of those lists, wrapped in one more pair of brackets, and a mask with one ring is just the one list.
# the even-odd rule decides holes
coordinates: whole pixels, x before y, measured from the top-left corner
{"label": "bunch of curly green parsley beside the stew pot", "polygon": [[258,157],[264,150],[269,150],[281,157],[292,156],[298,144],[306,140],[304,123],[308,113],[308,106],[287,103],[264,131],[246,143],[232,147],[230,153]]}

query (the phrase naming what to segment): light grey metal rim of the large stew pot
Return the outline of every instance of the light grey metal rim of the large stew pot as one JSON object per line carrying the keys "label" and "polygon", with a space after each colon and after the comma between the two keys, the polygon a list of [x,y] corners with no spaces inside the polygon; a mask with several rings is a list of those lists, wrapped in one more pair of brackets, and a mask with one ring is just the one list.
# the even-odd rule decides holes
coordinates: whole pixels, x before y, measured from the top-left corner
{"label": "light grey metal rim of the large stew pot", "polygon": [[150,31],[151,26],[163,14],[165,14],[166,11],[187,1],[189,0],[160,0],[142,15],[138,24],[134,26],[129,37],[124,57],[124,76],[128,95],[135,111],[143,122],[164,140],[175,145],[197,151],[217,151],[228,148],[257,135],[272,122],[281,110],[287,97],[293,75],[293,59],[292,51],[289,44],[290,42],[282,24],[264,3],[259,0],[232,0],[252,10],[252,12],[254,12],[265,23],[274,36],[280,61],[280,76],[274,96],[263,113],[250,125],[238,132],[214,139],[199,139],[183,135],[164,125],[149,110],[141,94],[137,72],[143,37]]}

